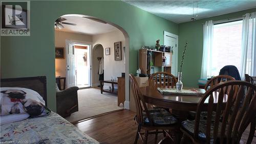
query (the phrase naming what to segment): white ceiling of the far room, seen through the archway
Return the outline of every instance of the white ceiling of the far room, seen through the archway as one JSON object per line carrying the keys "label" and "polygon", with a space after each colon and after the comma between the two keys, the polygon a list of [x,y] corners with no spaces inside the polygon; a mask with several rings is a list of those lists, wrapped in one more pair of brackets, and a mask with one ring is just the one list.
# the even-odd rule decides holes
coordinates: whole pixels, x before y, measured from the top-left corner
{"label": "white ceiling of the far room, seen through the archway", "polygon": [[63,22],[73,23],[76,24],[76,26],[62,24],[64,28],[60,31],[96,35],[118,30],[110,24],[103,24],[88,18],[83,18],[82,15],[63,15],[61,17],[67,19]]}

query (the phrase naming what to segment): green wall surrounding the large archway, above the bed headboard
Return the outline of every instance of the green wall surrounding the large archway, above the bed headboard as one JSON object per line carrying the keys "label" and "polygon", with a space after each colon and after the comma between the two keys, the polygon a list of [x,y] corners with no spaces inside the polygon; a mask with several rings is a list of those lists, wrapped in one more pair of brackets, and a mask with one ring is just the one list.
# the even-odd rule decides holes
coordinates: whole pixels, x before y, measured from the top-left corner
{"label": "green wall surrounding the large archway, above the bed headboard", "polygon": [[56,110],[54,21],[64,14],[95,16],[122,27],[130,37],[130,73],[137,69],[138,49],[163,43],[163,31],[178,25],[121,1],[31,1],[31,36],[1,37],[2,78],[47,76],[48,107]]}

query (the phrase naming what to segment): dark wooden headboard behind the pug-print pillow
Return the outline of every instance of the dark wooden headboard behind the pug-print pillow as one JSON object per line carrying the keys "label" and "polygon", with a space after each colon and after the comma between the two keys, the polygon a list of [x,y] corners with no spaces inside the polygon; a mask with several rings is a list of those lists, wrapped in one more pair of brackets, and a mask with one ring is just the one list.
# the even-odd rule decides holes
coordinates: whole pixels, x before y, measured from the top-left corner
{"label": "dark wooden headboard behind the pug-print pillow", "polygon": [[47,106],[46,76],[3,78],[1,87],[28,88],[38,92],[44,98]]}

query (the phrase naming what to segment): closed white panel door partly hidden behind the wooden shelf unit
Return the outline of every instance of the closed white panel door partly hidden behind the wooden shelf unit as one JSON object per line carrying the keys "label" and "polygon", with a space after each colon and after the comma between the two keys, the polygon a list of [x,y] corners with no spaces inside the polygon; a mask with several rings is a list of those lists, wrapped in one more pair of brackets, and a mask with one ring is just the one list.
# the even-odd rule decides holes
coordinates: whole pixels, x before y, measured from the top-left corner
{"label": "closed white panel door partly hidden behind the wooden shelf unit", "polygon": [[178,75],[178,35],[164,32],[164,45],[173,48],[171,73]]}

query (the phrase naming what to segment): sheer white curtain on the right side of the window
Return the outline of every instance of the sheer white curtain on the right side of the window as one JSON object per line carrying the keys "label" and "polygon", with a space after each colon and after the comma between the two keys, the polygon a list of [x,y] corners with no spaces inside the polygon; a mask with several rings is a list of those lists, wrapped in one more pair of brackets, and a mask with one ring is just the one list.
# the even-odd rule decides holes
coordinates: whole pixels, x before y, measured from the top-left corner
{"label": "sheer white curtain on the right side of the window", "polygon": [[245,14],[242,29],[241,78],[244,74],[256,76],[256,12]]}

